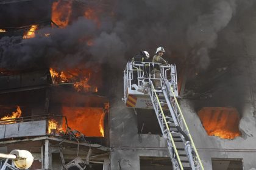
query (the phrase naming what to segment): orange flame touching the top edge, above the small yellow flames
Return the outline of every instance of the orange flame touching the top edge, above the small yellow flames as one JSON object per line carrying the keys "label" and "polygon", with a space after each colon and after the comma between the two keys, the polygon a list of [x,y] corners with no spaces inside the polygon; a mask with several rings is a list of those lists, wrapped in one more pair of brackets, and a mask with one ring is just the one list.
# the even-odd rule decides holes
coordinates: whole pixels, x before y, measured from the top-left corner
{"label": "orange flame touching the top edge, above the small yellow flames", "polygon": [[59,0],[52,4],[52,21],[59,27],[66,27],[69,23],[69,19],[72,13],[73,1]]}

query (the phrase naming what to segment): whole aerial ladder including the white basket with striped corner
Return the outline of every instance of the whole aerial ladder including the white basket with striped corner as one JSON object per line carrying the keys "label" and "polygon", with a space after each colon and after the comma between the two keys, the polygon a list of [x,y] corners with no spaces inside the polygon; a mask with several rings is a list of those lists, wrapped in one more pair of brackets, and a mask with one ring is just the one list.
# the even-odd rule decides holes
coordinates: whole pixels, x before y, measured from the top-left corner
{"label": "whole aerial ladder including the white basket with striped corner", "polygon": [[[160,77],[156,76],[155,71],[160,73]],[[156,87],[155,84],[160,86]],[[146,62],[126,64],[123,98],[126,106],[155,110],[173,169],[204,170],[177,97],[175,65]]]}

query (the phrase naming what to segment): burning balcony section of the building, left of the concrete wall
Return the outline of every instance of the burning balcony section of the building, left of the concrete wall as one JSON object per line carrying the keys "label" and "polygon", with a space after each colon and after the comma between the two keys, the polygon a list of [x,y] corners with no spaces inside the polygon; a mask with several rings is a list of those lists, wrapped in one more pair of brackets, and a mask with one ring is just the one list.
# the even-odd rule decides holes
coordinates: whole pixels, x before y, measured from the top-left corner
{"label": "burning balcony section of the building, left of the concrete wall", "polygon": [[[40,30],[69,22],[69,15],[62,14],[71,4],[62,1],[67,7],[62,9],[59,3],[1,1],[1,37],[14,35],[22,43],[51,36]],[[101,64],[82,69],[52,66],[1,68],[1,152],[32,152],[30,169],[106,169],[109,101],[102,89]]]}

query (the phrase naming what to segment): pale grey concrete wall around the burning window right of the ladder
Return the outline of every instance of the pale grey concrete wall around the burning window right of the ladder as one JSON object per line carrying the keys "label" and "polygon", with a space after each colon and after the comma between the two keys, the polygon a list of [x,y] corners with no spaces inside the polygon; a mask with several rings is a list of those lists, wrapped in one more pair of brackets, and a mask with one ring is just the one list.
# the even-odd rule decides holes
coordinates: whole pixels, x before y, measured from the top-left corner
{"label": "pale grey concrete wall around the burning window right of the ladder", "polygon": [[182,101],[181,107],[196,144],[197,151],[205,169],[212,169],[212,158],[241,158],[244,169],[256,167],[256,126],[253,107],[247,104],[240,120],[241,137],[233,140],[210,137],[188,101]]}

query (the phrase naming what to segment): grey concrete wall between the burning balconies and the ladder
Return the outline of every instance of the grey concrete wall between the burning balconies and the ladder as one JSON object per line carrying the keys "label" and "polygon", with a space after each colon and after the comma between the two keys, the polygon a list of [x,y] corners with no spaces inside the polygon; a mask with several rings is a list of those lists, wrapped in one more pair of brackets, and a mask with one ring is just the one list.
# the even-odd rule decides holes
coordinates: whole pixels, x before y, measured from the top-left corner
{"label": "grey concrete wall between the burning balconies and the ladder", "polygon": [[140,156],[168,156],[165,140],[160,135],[141,135],[140,142],[137,115],[132,109],[125,107],[118,99],[110,106],[111,169],[140,169]]}

